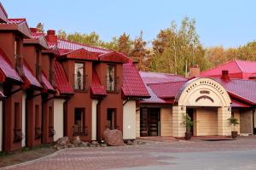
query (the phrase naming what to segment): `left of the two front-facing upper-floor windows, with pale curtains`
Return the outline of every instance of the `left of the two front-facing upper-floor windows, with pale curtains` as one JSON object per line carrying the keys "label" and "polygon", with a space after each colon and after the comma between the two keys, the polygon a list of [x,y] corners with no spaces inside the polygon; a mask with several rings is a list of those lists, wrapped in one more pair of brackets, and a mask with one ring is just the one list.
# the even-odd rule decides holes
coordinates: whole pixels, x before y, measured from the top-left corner
{"label": "left of the two front-facing upper-floor windows, with pale curtains", "polygon": [[74,88],[84,90],[84,63],[75,63]]}

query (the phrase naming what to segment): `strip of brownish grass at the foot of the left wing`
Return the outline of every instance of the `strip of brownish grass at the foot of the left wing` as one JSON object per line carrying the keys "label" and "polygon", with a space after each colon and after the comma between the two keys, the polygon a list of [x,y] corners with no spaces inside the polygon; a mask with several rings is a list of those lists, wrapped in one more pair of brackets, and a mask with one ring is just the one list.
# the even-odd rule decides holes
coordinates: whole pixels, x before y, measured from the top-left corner
{"label": "strip of brownish grass at the foot of the left wing", "polygon": [[49,156],[56,150],[52,148],[52,144],[42,144],[35,148],[22,148],[15,152],[0,152],[0,167],[15,165],[18,163],[32,161],[43,156]]}

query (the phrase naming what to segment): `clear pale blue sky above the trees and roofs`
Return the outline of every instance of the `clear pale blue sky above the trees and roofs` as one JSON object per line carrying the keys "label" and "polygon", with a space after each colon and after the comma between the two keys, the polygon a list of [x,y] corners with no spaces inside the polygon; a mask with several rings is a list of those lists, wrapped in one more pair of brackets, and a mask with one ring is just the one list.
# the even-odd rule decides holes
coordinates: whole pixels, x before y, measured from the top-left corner
{"label": "clear pale blue sky above the trees and roofs", "polygon": [[[9,18],[26,18],[29,26],[67,32],[96,31],[109,41],[123,32],[153,40],[160,29],[188,16],[205,47],[237,47],[256,40],[253,0],[1,0]],[[35,3],[37,2],[37,3]]]}

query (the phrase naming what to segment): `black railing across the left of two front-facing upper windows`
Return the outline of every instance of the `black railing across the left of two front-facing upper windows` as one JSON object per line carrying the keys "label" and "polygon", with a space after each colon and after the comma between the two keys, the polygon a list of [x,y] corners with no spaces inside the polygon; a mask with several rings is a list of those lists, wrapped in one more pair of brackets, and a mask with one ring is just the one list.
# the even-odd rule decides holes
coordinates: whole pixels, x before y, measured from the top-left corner
{"label": "black railing across the left of two front-facing upper windows", "polygon": [[85,91],[87,91],[88,90],[88,88],[87,88],[87,75],[78,75],[78,74],[74,74],[73,75],[73,77],[74,77],[74,84],[73,84],[73,88],[74,88],[74,90],[75,91],[77,91],[77,92],[85,92]]}

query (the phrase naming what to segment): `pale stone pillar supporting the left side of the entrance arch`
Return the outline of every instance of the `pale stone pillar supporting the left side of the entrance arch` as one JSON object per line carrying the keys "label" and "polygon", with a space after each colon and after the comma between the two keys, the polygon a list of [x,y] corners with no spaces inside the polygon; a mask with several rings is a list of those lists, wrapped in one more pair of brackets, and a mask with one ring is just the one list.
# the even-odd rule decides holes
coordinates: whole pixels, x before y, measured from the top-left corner
{"label": "pale stone pillar supporting the left side of the entrance arch", "polygon": [[172,106],[172,135],[173,137],[184,137],[186,127],[183,122],[183,115],[186,114],[186,107],[180,105]]}

